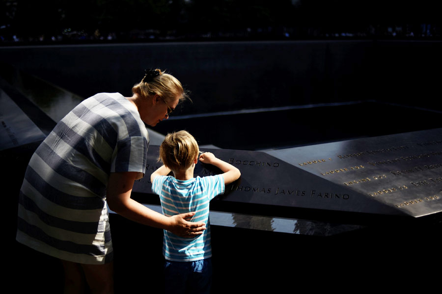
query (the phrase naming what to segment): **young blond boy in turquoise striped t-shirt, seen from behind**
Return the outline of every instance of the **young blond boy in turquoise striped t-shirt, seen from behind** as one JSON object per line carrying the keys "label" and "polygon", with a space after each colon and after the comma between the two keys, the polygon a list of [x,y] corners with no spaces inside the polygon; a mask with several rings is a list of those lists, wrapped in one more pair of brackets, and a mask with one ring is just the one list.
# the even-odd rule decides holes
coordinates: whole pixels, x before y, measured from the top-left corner
{"label": "young blond boy in turquoise striped t-shirt, seen from behind", "polygon": [[[198,157],[223,173],[194,178]],[[166,293],[209,293],[212,281],[209,201],[224,193],[225,185],[238,179],[241,172],[210,152],[199,155],[198,144],[186,131],[166,136],[160,146],[160,159],[164,166],[153,172],[150,180],[152,191],[160,196],[163,214],[173,216],[194,211],[192,221],[203,221],[207,227],[202,235],[189,239],[164,231]],[[170,171],[174,176],[167,176]]]}

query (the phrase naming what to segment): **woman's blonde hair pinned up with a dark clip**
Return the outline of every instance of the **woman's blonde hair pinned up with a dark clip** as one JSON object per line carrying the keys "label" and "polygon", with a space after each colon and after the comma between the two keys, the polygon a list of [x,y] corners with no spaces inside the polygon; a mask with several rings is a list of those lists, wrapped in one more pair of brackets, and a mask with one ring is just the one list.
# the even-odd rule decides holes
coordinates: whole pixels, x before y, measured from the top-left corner
{"label": "woman's blonde hair pinned up with a dark clip", "polygon": [[142,98],[157,94],[166,102],[172,102],[177,97],[180,101],[189,99],[189,95],[183,89],[180,81],[160,69],[146,70],[143,79],[132,87],[132,93],[138,94]]}

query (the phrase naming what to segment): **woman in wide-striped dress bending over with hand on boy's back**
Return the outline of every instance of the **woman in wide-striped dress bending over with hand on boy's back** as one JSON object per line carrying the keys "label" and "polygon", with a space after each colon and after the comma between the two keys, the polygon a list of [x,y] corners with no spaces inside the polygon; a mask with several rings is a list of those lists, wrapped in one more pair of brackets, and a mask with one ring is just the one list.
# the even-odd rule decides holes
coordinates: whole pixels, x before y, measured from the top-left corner
{"label": "woman in wide-striped dress bending over with hand on boy's back", "polygon": [[[165,217],[131,199],[145,172],[154,126],[187,98],[181,83],[148,70],[133,96],[100,93],[85,99],[57,125],[33,154],[20,191],[17,241],[59,258],[65,292],[111,293],[112,242],[107,205],[132,221],[181,236],[202,233],[204,223]],[[144,122],[144,123],[143,123]]]}

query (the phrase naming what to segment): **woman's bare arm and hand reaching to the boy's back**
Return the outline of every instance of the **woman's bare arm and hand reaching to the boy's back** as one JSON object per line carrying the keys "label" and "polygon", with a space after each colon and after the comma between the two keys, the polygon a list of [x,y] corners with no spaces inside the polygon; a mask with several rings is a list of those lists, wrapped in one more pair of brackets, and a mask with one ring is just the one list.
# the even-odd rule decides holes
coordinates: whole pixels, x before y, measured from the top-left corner
{"label": "woman's bare arm and hand reaching to the boy's back", "polygon": [[141,224],[166,229],[175,235],[192,238],[206,229],[204,222],[190,222],[194,212],[166,217],[131,198],[137,172],[111,172],[107,201],[109,208],[119,215]]}

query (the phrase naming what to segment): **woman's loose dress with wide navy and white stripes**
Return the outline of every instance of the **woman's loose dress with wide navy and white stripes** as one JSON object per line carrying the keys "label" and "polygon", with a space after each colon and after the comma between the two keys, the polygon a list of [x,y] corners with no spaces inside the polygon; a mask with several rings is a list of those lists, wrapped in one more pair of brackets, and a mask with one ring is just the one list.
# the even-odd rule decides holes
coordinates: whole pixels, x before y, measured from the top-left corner
{"label": "woman's loose dress with wide navy and white stripes", "polygon": [[19,196],[17,241],[59,259],[113,256],[106,189],[111,172],[145,172],[148,134],[137,108],[100,93],[68,113],[37,148]]}

